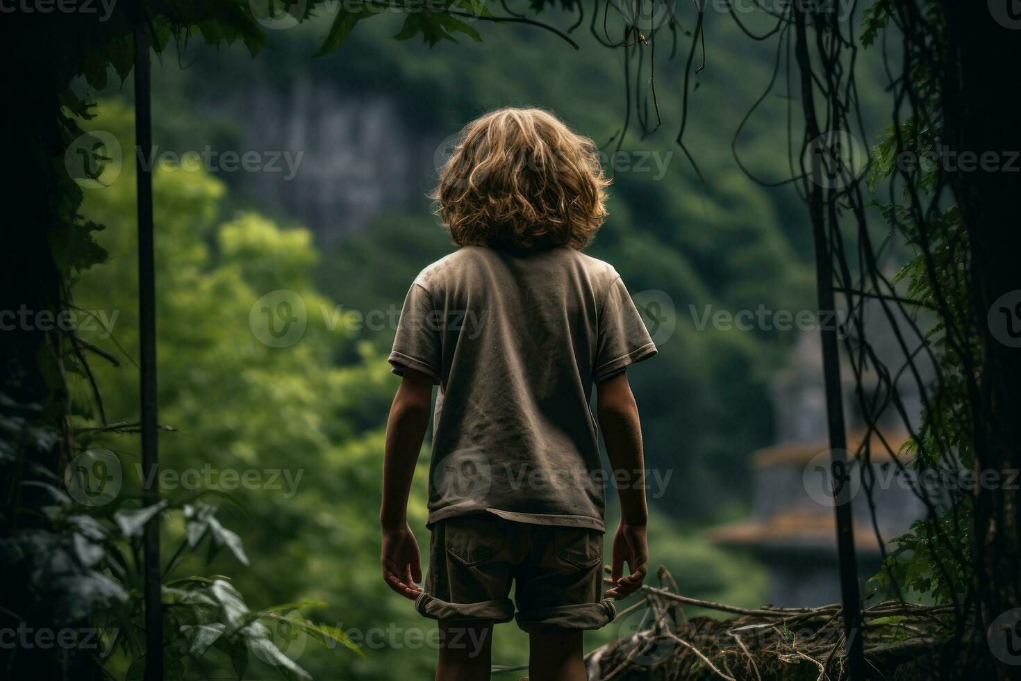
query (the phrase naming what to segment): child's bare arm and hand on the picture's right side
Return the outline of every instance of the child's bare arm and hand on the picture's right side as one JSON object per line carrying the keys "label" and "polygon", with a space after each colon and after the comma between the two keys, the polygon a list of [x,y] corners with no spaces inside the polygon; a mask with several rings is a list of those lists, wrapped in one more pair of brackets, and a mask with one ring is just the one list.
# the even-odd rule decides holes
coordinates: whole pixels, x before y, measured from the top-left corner
{"label": "child's bare arm and hand on the picture's right side", "polygon": [[[621,372],[596,384],[596,411],[610,466],[617,480],[621,500],[621,524],[614,536],[612,579],[606,590],[612,598],[624,598],[641,586],[648,572],[645,525],[645,463],[642,454],[641,424],[627,374]],[[616,476],[623,475],[623,480]],[[623,576],[627,562],[631,574]]]}

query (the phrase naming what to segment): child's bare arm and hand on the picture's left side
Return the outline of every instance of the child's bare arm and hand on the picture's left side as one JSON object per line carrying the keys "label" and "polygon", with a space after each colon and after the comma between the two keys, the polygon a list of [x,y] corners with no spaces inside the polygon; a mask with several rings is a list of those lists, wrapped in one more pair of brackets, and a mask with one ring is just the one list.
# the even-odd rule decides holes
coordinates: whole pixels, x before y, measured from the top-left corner
{"label": "child's bare arm and hand on the picture's left side", "polygon": [[381,563],[383,579],[397,593],[416,598],[422,590],[422,558],[415,534],[407,525],[407,497],[411,478],[429,426],[433,380],[421,372],[404,370],[403,380],[390,405],[383,461],[383,529]]}

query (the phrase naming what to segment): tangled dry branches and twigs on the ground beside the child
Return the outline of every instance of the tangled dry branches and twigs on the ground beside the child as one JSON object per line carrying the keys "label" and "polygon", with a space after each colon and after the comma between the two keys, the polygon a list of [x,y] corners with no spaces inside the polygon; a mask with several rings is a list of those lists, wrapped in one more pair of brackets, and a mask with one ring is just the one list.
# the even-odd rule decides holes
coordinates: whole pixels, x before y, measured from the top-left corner
{"label": "tangled dry branches and twigs on the ground beside the child", "polygon": [[[661,588],[642,587],[641,600],[619,618],[634,620],[636,632],[586,658],[589,678],[770,681],[846,678],[842,607],[743,609],[683,596],[660,569]],[[682,605],[735,614],[717,620],[686,618]],[[953,636],[953,609],[874,603],[863,611],[868,665],[887,678],[902,666],[921,673],[929,651]]]}

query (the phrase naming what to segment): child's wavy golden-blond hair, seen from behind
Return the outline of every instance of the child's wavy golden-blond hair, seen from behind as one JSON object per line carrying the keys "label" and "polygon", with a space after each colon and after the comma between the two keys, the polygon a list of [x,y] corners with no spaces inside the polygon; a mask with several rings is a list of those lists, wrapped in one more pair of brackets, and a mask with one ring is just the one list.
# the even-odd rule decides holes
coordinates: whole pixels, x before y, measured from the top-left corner
{"label": "child's wavy golden-blond hair, seen from behind", "polygon": [[537,108],[471,121],[440,171],[435,212],[460,246],[587,246],[610,181],[595,143]]}

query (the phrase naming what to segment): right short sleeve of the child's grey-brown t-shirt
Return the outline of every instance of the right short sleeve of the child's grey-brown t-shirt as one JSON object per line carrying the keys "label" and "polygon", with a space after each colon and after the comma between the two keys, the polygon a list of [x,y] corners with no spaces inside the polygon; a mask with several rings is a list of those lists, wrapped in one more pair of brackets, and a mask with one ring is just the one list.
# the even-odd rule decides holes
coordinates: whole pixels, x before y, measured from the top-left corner
{"label": "right short sleeve of the child's grey-brown t-shirt", "polygon": [[655,354],[645,323],[620,277],[610,285],[599,312],[598,339],[592,381],[598,383],[629,364]]}

